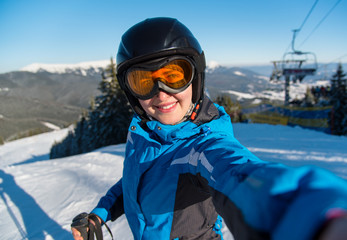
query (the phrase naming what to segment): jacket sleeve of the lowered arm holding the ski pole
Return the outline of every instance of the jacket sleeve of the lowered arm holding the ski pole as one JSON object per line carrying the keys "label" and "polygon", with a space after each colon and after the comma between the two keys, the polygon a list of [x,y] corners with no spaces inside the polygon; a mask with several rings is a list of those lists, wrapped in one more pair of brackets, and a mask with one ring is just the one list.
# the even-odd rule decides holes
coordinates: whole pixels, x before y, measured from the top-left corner
{"label": "jacket sleeve of the lowered arm holding the ski pole", "polygon": [[124,213],[122,179],[107,191],[92,213],[98,215],[105,222],[114,221]]}

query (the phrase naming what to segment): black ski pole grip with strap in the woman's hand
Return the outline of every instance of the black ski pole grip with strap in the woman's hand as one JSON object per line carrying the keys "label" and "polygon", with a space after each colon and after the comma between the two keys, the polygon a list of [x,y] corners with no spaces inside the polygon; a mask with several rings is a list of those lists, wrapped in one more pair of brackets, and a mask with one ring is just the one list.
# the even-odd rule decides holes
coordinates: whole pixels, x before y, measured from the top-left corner
{"label": "black ski pole grip with strap in the woman's hand", "polygon": [[[93,221],[93,223],[90,220]],[[113,240],[113,234],[110,228],[101,218],[98,218],[94,213],[78,214],[72,220],[71,227],[76,228],[81,233],[83,240],[94,240],[94,235],[96,236],[97,240],[103,240],[100,220],[102,224],[105,225]]]}

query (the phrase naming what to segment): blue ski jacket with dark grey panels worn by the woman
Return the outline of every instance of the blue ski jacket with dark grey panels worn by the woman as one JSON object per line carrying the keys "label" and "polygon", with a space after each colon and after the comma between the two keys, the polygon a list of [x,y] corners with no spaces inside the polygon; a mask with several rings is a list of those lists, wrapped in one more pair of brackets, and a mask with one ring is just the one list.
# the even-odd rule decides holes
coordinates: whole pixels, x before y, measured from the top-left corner
{"label": "blue ski jacket with dark grey panels worn by the woman", "polygon": [[258,159],[206,99],[194,121],[134,116],[123,177],[93,213],[104,221],[125,213],[136,240],[222,239],[219,216],[236,240],[307,240],[335,209],[347,209],[345,180]]}

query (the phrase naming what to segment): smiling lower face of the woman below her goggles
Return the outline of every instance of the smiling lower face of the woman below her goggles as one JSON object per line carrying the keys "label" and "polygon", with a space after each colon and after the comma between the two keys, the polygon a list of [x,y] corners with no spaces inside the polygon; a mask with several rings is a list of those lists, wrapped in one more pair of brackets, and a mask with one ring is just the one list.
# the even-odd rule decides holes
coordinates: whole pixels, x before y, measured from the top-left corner
{"label": "smiling lower face of the woman below her goggles", "polygon": [[148,100],[139,100],[148,115],[163,124],[175,124],[188,112],[192,103],[192,85],[180,93],[160,91]]}

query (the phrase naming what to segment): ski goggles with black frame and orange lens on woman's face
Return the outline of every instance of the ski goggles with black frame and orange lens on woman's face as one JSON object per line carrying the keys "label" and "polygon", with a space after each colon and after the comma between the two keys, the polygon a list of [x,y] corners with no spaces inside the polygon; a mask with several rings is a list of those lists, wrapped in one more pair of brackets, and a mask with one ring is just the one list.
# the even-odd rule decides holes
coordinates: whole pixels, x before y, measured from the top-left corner
{"label": "ski goggles with black frame and orange lens on woman's face", "polygon": [[173,57],[130,67],[125,82],[136,98],[146,100],[158,94],[160,89],[168,93],[182,92],[193,77],[192,62],[187,58]]}

